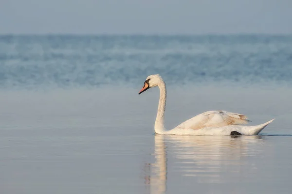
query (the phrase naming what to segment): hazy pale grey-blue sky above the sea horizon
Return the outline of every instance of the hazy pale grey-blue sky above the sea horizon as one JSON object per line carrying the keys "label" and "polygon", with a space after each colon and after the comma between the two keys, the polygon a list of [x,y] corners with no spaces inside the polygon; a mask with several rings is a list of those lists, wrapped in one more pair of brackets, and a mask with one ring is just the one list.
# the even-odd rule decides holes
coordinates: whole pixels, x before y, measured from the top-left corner
{"label": "hazy pale grey-blue sky above the sea horizon", "polygon": [[0,0],[0,34],[292,33],[292,0]]}

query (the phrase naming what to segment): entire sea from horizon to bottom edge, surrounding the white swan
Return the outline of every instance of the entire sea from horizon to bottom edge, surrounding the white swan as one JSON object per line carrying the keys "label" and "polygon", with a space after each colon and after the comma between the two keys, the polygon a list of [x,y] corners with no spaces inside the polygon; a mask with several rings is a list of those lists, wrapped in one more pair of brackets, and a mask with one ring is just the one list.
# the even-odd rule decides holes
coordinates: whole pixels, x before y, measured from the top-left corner
{"label": "entire sea from horizon to bottom edge, surrounding the white swan", "polygon": [[[259,135],[154,133],[211,110]],[[290,194],[292,35],[0,35],[1,194]]]}

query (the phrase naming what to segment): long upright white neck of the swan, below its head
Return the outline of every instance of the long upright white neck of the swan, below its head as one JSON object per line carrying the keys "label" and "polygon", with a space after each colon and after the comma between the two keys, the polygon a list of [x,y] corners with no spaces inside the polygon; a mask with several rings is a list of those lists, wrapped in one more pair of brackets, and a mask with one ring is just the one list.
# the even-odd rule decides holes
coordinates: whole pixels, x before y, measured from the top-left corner
{"label": "long upright white neck of the swan, below its head", "polygon": [[166,85],[163,80],[158,83],[158,87],[160,90],[159,104],[157,110],[157,116],[155,120],[154,131],[158,134],[163,134],[165,132],[164,129],[164,112],[166,105]]}

